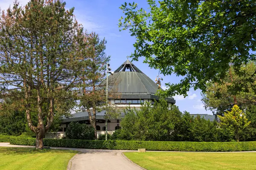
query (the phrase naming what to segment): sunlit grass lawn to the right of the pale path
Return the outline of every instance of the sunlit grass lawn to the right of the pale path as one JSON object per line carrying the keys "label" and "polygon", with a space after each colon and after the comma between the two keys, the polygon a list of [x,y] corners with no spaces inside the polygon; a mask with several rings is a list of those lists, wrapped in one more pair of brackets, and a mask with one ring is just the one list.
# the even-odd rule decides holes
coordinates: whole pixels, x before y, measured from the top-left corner
{"label": "sunlit grass lawn to the right of the pale path", "polygon": [[147,170],[256,170],[256,153],[127,152]]}

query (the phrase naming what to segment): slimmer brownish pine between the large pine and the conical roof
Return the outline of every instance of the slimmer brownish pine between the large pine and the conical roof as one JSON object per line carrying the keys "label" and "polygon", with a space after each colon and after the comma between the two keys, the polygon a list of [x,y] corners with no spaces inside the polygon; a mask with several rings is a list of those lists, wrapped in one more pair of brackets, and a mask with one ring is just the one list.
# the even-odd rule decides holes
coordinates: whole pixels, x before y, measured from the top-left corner
{"label": "slimmer brownish pine between the large pine and the conical roof", "polygon": [[105,106],[105,89],[102,88],[101,83],[105,80],[105,66],[109,57],[105,54],[106,41],[100,40],[98,34],[87,34],[83,42],[86,48],[82,53],[84,63],[79,73],[81,76],[79,106],[82,111],[88,112],[97,139],[96,113]]}

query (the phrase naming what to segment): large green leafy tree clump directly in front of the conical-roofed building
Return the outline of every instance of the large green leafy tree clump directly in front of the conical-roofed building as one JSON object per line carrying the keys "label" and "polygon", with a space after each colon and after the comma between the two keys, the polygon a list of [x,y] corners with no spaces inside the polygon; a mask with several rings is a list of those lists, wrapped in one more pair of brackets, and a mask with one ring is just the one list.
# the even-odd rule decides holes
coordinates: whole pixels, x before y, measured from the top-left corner
{"label": "large green leafy tree clump directly in front of the conical-roofed building", "polygon": [[155,101],[154,105],[146,102],[140,110],[128,108],[125,112],[117,135],[119,139],[125,140],[173,140],[174,130],[181,118],[177,106],[168,106],[164,99]]}

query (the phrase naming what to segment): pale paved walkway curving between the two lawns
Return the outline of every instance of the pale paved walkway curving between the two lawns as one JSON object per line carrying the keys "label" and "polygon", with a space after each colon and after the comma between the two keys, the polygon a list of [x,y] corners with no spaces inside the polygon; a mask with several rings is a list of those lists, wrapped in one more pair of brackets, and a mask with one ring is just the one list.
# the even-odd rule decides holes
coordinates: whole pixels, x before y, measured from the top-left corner
{"label": "pale paved walkway curving between the two lawns", "polygon": [[[31,147],[0,143],[0,147]],[[122,152],[134,152],[134,150],[101,150],[81,149],[68,147],[50,147],[51,149],[77,150],[80,153],[71,159],[70,170],[141,170],[137,164],[132,163]],[[70,165],[69,163],[69,165]],[[68,167],[69,168],[69,167]]]}

